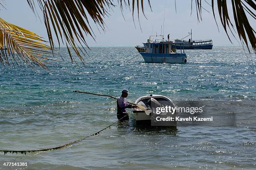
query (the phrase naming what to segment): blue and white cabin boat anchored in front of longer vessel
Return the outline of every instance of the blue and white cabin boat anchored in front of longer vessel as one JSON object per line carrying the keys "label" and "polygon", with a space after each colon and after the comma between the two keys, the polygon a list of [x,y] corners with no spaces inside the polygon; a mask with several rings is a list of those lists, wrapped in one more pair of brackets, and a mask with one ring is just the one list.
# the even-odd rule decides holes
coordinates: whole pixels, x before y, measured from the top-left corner
{"label": "blue and white cabin boat anchored in front of longer vessel", "polygon": [[169,40],[164,40],[164,36],[160,35],[161,39],[155,39],[154,41],[151,37],[155,37],[151,35],[147,40],[147,43],[144,44],[145,51],[142,51],[142,48],[136,48],[145,62],[148,63],[186,63],[187,55],[184,53],[184,49],[182,52],[182,48],[177,50],[177,46],[183,47],[183,42],[173,42]]}

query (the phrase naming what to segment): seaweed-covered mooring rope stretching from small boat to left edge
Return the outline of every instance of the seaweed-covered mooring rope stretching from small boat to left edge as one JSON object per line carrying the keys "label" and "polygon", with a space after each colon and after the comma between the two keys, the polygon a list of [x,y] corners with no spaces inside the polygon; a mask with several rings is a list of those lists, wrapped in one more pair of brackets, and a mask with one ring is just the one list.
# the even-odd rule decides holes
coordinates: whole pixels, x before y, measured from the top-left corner
{"label": "seaweed-covered mooring rope stretching from small boat to left edge", "polygon": [[[128,114],[130,114],[130,113],[128,113]],[[127,115],[125,115],[125,116],[127,116]],[[119,120],[122,120],[124,117],[120,118]],[[80,141],[82,141],[82,140],[84,140],[86,138],[91,137],[91,136],[99,135],[103,130],[106,130],[107,128],[110,128],[112,125],[117,123],[119,120],[113,122],[111,125],[107,126],[106,128],[103,128],[102,130],[98,131],[97,133],[93,133],[92,135],[85,136],[84,138],[81,138],[79,140],[74,140],[74,141],[72,141],[70,143],[67,143],[67,144],[64,144],[64,145],[61,145],[61,146],[57,146],[57,147],[54,147],[54,148],[38,149],[38,150],[0,150],[0,153],[4,153],[4,155],[7,154],[7,153],[12,153],[12,154],[13,153],[16,153],[16,154],[21,153],[21,154],[25,154],[26,155],[26,153],[46,152],[46,151],[50,151],[50,150],[58,150],[58,149],[67,147],[69,145],[72,145],[74,143],[78,143],[78,142],[80,142]]]}

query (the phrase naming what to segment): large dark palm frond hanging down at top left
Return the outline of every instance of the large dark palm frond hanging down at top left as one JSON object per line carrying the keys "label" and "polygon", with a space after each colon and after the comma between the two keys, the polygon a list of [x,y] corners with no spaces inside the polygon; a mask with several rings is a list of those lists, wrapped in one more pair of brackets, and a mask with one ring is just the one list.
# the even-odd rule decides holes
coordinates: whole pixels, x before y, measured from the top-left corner
{"label": "large dark palm frond hanging down at top left", "polygon": [[[36,8],[35,2],[38,2],[44,13],[44,24],[51,47],[54,46],[53,36],[56,36],[59,46],[61,43],[67,45],[72,61],[74,58],[69,46],[83,60],[78,46],[88,47],[85,38],[87,35],[95,38],[91,22],[105,30],[104,18],[109,16],[110,10],[115,7],[112,0],[27,0],[27,2],[33,11]],[[123,5],[130,7],[129,0],[118,0],[118,2],[121,10]],[[143,0],[136,0],[136,2],[132,0],[133,14],[135,4],[137,4],[138,13],[141,6],[144,14]]]}

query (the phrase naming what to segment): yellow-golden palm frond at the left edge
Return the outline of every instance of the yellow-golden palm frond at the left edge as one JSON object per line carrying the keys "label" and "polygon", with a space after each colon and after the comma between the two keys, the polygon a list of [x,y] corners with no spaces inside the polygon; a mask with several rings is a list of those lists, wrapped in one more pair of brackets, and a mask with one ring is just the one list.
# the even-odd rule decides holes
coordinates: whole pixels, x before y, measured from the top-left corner
{"label": "yellow-golden palm frond at the left edge", "polygon": [[44,44],[35,33],[6,22],[0,18],[0,63],[25,62],[46,68],[43,60],[48,60],[51,47]]}

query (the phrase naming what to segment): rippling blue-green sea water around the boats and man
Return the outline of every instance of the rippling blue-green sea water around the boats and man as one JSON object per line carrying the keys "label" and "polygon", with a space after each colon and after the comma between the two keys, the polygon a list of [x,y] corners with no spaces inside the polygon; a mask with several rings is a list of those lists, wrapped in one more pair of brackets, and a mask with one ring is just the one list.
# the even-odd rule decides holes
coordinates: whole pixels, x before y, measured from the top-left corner
{"label": "rippling blue-green sea water around the boats and man", "polygon": [[[66,48],[59,51],[68,56]],[[49,62],[50,70],[0,67],[0,150],[56,147],[117,120],[116,101],[73,90],[119,96],[148,94],[204,101],[231,124],[151,128],[117,123],[97,136],[48,152],[4,155],[27,170],[256,169],[256,57],[242,47],[187,50],[186,64],[149,64],[134,47],[92,47],[86,63]],[[129,110],[130,112],[131,110]],[[220,115],[221,113],[221,115]],[[222,120],[222,118],[220,118]],[[231,121],[231,120],[230,120]]]}

